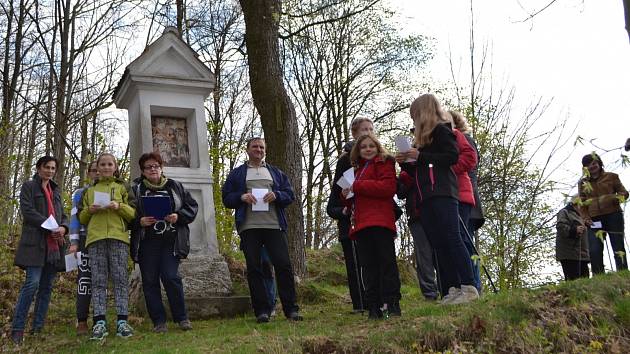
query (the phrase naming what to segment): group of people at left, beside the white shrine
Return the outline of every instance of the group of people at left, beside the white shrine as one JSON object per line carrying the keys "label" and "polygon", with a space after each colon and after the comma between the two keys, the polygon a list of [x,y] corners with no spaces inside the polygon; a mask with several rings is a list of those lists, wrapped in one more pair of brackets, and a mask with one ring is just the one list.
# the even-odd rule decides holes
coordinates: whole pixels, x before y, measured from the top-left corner
{"label": "group of people at left, beside the white shrine", "polygon": [[[192,329],[184,302],[180,260],[190,250],[188,224],[197,214],[197,202],[181,183],[162,174],[159,154],[143,154],[139,160],[141,177],[130,187],[119,177],[114,155],[101,154],[89,164],[89,183],[73,195],[72,218],[63,210],[60,187],[53,181],[57,160],[41,157],[33,178],[22,185],[20,211],[22,235],[15,265],[26,271],[20,289],[11,339],[21,344],[28,310],[35,298],[31,334],[41,332],[48,311],[52,287],[58,271],[65,270],[66,253],[80,254],[77,275],[77,334],[89,332],[87,319],[92,303],[91,339],[108,335],[106,321],[107,285],[111,279],[116,304],[116,335],[127,338],[133,328],[127,322],[129,302],[128,259],[139,264],[147,310],[155,332],[166,332],[160,281],[164,285],[173,320],[182,330]],[[142,197],[169,198],[170,212],[157,220],[147,215]],[[105,200],[103,202],[103,196]],[[53,217],[59,225],[45,224]],[[69,234],[66,250],[64,236]]]}

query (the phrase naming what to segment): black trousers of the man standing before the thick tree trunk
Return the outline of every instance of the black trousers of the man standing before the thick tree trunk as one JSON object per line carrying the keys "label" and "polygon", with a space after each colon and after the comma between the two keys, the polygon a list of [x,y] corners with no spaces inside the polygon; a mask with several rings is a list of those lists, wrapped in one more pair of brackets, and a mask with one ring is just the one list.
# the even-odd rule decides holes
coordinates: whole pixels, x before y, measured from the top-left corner
{"label": "black trousers of the man standing before the thick tree trunk", "polygon": [[289,259],[287,237],[282,230],[250,229],[241,233],[241,249],[247,264],[247,284],[256,316],[270,314],[270,301],[262,271],[261,248],[265,246],[276,273],[278,294],[285,316],[298,311],[293,268]]}

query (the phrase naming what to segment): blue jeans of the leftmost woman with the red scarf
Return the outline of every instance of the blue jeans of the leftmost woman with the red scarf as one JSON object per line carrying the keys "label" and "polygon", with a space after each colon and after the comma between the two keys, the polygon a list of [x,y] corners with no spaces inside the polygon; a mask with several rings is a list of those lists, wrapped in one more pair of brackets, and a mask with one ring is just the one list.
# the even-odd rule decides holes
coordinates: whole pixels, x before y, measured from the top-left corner
{"label": "blue jeans of the leftmost woman with the red scarf", "polygon": [[26,267],[26,279],[15,305],[15,314],[11,325],[13,331],[23,331],[26,327],[28,309],[31,307],[35,293],[37,293],[37,297],[35,298],[35,312],[31,328],[38,331],[44,327],[44,319],[48,312],[50,294],[56,275],[57,271],[52,264],[46,263],[43,267]]}

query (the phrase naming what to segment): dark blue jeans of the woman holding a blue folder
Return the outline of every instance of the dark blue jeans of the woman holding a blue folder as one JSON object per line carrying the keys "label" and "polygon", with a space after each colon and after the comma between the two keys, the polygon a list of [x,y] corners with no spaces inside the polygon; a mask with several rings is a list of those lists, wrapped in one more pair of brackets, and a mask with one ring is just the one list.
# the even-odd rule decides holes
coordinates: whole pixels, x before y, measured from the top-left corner
{"label": "dark blue jeans of the woman holding a blue folder", "polygon": [[179,259],[173,255],[173,239],[148,237],[140,241],[138,261],[147,312],[154,325],[166,323],[160,280],[164,285],[173,321],[188,319],[184,285],[179,276]]}

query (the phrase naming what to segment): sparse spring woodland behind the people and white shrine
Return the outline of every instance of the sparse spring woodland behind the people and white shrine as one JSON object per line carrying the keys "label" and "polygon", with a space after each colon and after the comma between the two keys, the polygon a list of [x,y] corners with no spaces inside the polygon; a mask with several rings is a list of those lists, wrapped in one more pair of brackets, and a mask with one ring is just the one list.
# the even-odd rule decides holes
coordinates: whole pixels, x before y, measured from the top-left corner
{"label": "sparse spring woodland behind the people and white shrine", "polygon": [[[486,215],[476,243],[497,287],[557,281],[559,272],[549,271],[555,263],[555,212],[580,171],[565,180],[554,172],[566,161],[567,147],[589,142],[566,119],[545,115],[551,100],[534,97],[516,107],[514,87],[494,86],[487,47],[474,45],[473,27],[471,77],[427,80],[435,39],[405,34],[388,4],[0,1],[0,258],[6,260],[0,272],[15,271],[10,260],[20,234],[19,190],[39,156],[59,159],[56,180],[67,203],[87,163],[101,152],[114,152],[129,177],[129,164],[136,162],[118,138],[126,135],[126,117],[113,106],[112,93],[125,66],[166,26],[175,26],[216,75],[206,115],[221,253],[238,253],[220,187],[243,161],[246,138],[264,134],[268,160],[291,177],[299,202],[290,210],[290,250],[296,272],[304,274],[305,249],[337,242],[325,207],[337,157],[350,139],[349,122],[373,118],[379,137],[393,148],[393,137],[411,126],[409,103],[431,91],[473,127]],[[264,66],[274,68],[271,76],[259,76],[257,68]],[[619,156],[625,166],[627,157]],[[399,257],[413,262],[404,218],[399,226]]]}

